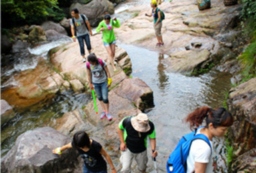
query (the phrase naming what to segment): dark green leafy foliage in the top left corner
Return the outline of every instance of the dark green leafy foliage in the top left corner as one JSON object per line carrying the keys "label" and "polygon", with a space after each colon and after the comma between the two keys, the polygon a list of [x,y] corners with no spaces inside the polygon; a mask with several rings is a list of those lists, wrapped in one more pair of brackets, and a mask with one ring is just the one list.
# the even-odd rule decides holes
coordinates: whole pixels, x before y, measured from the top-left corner
{"label": "dark green leafy foliage in the top left corner", "polygon": [[57,0],[2,0],[2,26],[40,24],[47,19],[59,21],[64,14],[57,5]]}

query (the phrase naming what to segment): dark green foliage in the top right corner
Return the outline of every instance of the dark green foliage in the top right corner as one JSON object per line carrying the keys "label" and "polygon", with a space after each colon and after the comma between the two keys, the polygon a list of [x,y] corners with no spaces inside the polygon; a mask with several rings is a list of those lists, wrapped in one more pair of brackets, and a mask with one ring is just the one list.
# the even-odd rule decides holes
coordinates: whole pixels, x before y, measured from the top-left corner
{"label": "dark green foliage in the top right corner", "polygon": [[243,0],[242,17],[243,19],[256,20],[256,1],[255,0]]}

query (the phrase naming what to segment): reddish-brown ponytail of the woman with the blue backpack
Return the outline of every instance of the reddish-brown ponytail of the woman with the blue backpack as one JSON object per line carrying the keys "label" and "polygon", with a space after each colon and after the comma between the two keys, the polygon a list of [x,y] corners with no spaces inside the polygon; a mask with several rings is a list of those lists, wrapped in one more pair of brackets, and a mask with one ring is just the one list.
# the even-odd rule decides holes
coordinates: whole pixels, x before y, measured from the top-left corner
{"label": "reddish-brown ponytail of the woman with the blue backpack", "polygon": [[191,129],[198,128],[203,123],[203,119],[206,118],[210,110],[211,108],[207,106],[196,108],[185,118],[185,122],[189,122]]}

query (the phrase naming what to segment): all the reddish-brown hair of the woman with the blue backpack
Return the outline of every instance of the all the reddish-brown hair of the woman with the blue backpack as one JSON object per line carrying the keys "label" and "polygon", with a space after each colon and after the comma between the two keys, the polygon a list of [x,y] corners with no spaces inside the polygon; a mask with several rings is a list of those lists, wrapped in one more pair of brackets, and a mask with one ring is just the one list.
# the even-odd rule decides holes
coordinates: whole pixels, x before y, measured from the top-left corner
{"label": "all the reddish-brown hair of the woman with the blue backpack", "polygon": [[185,118],[185,122],[189,122],[191,129],[198,128],[203,123],[204,118],[206,118],[206,127],[210,123],[213,123],[214,128],[218,126],[228,127],[233,124],[233,116],[225,108],[220,107],[213,110],[207,106],[196,108]]}

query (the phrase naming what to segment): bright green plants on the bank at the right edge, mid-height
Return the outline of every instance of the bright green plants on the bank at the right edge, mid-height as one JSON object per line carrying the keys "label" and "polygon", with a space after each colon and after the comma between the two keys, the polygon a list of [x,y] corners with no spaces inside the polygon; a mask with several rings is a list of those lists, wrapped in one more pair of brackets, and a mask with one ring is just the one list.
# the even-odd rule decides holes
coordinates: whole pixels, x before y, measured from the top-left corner
{"label": "bright green plants on the bank at the right edge, mid-height", "polygon": [[238,57],[239,64],[241,65],[243,81],[256,77],[256,41],[251,43],[243,54]]}

